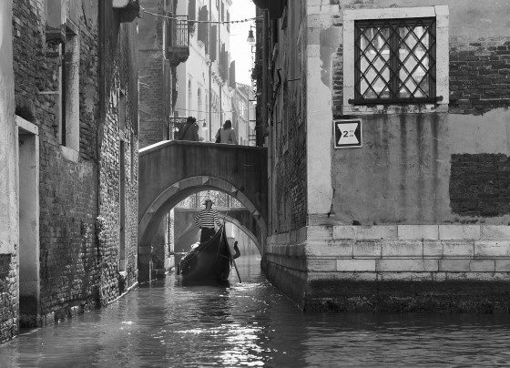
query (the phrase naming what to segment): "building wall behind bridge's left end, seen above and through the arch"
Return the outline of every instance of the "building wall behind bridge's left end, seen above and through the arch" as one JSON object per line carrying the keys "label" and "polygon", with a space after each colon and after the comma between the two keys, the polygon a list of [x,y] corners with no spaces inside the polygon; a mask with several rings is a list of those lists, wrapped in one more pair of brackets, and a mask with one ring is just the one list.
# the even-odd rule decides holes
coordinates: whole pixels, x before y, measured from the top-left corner
{"label": "building wall behind bridge's left end, seen above and through the arch", "polygon": [[[139,19],[140,148],[173,139],[178,90],[177,66],[189,57],[188,15],[179,15],[183,0],[149,0]],[[168,212],[150,244],[138,255],[140,281],[149,281],[174,267],[173,210]]]}

